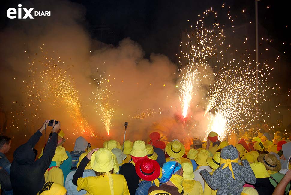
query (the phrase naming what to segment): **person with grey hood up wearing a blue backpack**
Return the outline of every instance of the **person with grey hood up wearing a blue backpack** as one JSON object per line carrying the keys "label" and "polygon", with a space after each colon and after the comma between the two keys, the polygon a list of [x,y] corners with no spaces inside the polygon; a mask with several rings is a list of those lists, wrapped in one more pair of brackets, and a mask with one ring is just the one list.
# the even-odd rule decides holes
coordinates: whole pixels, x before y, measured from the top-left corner
{"label": "person with grey hood up wearing a blue backpack", "polygon": [[74,150],[70,152],[72,157],[72,168],[71,170],[75,170],[77,168],[77,164],[79,162],[79,157],[82,153],[85,152],[88,147],[88,142],[82,136],[78,137],[75,142]]}

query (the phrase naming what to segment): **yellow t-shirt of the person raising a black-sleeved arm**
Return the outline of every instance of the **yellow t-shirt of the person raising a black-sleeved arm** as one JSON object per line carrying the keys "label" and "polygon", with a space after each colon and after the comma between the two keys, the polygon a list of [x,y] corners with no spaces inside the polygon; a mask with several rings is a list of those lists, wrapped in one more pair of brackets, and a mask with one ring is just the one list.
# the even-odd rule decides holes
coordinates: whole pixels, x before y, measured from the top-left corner
{"label": "yellow t-shirt of the person raising a black-sleeved arm", "polygon": [[[111,174],[113,178],[114,195],[129,195],[128,185],[123,175]],[[89,194],[111,194],[107,175],[79,178],[77,190],[86,190]]]}

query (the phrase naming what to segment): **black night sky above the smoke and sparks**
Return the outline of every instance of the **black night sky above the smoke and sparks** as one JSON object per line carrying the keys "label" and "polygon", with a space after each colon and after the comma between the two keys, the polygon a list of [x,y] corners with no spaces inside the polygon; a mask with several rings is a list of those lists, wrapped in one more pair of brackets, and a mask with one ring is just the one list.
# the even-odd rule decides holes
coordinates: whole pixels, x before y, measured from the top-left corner
{"label": "black night sky above the smoke and sparks", "polygon": [[[22,1],[6,1],[1,6],[1,25],[3,29],[9,25],[6,11],[10,7],[17,7]],[[51,1],[43,1],[50,4]],[[124,38],[131,38],[145,50],[146,57],[150,53],[161,53],[176,62],[176,53],[179,51],[181,32],[191,24],[195,25],[197,15],[205,9],[213,7],[222,10],[222,4],[231,6],[232,15],[237,15],[235,25],[255,21],[255,1],[251,0],[203,0],[203,1],[83,1],[73,0],[86,10],[85,23],[92,38],[102,42],[117,45]],[[32,1],[33,3],[33,1]],[[269,6],[269,8],[267,8]],[[242,13],[242,10],[245,10]],[[286,1],[259,1],[259,23],[272,38],[273,47],[285,51],[290,56],[290,20],[289,7]],[[190,20],[190,21],[187,21]],[[287,27],[285,27],[287,25]],[[112,32],[110,38],[96,32],[96,27],[106,26]],[[253,31],[253,35],[255,29]],[[285,45],[283,45],[285,42]],[[254,43],[255,44],[255,43]],[[255,46],[254,46],[255,47]]]}

